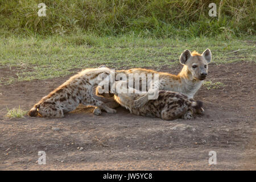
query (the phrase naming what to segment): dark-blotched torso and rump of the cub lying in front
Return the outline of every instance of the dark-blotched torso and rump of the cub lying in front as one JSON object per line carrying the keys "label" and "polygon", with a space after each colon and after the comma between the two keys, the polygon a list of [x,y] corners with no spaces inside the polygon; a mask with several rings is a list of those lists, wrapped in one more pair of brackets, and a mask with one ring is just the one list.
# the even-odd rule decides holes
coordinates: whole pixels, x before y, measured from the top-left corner
{"label": "dark-blotched torso and rump of the cub lying in front", "polygon": [[187,96],[171,91],[160,90],[156,100],[148,101],[144,106],[131,109],[137,115],[158,117],[165,120],[177,118],[191,119],[195,114],[203,112],[202,103]]}

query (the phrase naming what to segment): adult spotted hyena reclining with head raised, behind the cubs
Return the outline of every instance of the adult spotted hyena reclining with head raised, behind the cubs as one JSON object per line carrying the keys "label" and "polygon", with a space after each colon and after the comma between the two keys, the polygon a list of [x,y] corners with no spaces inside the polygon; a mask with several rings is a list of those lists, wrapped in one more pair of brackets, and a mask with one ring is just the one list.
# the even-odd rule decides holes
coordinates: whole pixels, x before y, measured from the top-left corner
{"label": "adult spotted hyena reclining with head raised, behind the cubs", "polygon": [[[197,90],[200,89],[203,81],[207,77],[208,64],[212,60],[212,53],[210,49],[206,49],[202,54],[198,52],[190,52],[188,49],[180,55],[180,63],[183,65],[183,69],[178,75],[172,75],[170,73],[156,72],[150,69],[133,68],[128,70],[116,71],[117,73],[124,73],[125,75],[138,73],[148,74],[151,73],[154,77],[158,74],[158,89],[170,90],[173,92],[179,92],[189,98],[193,98]],[[148,101],[148,93],[139,97],[134,102],[134,108],[140,108]],[[124,101],[125,102],[125,101]],[[154,102],[154,101],[152,101]]]}

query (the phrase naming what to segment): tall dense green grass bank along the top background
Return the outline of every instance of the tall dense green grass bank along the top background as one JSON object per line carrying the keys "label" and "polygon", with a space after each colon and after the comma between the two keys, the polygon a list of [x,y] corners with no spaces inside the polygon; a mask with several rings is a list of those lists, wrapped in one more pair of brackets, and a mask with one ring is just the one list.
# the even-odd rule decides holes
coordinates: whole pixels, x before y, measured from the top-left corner
{"label": "tall dense green grass bank along the top background", "polygon": [[[47,6],[45,17],[37,14],[42,2]],[[216,3],[217,17],[208,15],[209,3]],[[243,36],[255,34],[256,24],[253,0],[1,0],[0,19],[0,35],[5,36]]]}

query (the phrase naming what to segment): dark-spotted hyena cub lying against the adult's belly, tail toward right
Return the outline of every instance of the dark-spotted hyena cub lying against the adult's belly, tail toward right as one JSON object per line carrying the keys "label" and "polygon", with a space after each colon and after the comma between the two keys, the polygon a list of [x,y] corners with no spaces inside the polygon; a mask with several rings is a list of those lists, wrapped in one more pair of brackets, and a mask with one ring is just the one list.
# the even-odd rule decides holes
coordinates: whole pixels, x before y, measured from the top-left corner
{"label": "dark-spotted hyena cub lying against the adult's belly, tail toward right", "polygon": [[173,120],[177,118],[191,119],[195,114],[201,114],[204,111],[201,101],[195,101],[184,94],[167,90],[160,90],[156,100],[148,100],[146,104],[135,109],[134,101],[143,97],[144,94],[135,93],[135,89],[130,89],[133,90],[133,93],[115,93],[114,98],[133,114]]}

